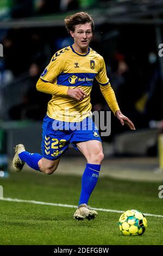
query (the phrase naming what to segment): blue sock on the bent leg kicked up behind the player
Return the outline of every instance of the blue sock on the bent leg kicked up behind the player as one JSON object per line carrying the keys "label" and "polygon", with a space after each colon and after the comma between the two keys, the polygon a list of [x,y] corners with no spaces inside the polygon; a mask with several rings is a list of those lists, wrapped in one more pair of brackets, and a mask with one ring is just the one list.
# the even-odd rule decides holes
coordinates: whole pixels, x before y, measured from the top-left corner
{"label": "blue sock on the bent leg kicked up behind the player", "polygon": [[38,166],[38,162],[43,157],[40,154],[23,151],[22,153],[18,154],[18,157],[20,158],[21,161],[26,162],[28,166],[30,166],[31,168],[35,170],[40,170]]}

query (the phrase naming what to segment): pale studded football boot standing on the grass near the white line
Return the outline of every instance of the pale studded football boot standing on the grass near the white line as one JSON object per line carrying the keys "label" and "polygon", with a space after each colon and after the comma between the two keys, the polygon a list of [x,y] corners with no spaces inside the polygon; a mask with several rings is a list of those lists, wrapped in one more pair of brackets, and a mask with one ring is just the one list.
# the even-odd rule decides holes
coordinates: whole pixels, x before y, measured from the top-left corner
{"label": "pale studded football boot standing on the grass near the white line", "polygon": [[73,217],[78,221],[83,221],[84,218],[87,218],[87,220],[90,221],[97,217],[97,211],[90,210],[90,207],[87,206],[87,204],[80,204]]}

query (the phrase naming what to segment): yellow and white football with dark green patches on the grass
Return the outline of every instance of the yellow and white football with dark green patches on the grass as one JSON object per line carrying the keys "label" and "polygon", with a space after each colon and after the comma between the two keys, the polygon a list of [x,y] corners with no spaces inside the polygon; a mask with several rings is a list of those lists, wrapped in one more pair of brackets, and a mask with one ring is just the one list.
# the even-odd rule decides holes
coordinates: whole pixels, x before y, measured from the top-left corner
{"label": "yellow and white football with dark green patches on the grass", "polygon": [[147,228],[147,220],[142,212],[127,210],[120,216],[118,225],[123,235],[142,235]]}

